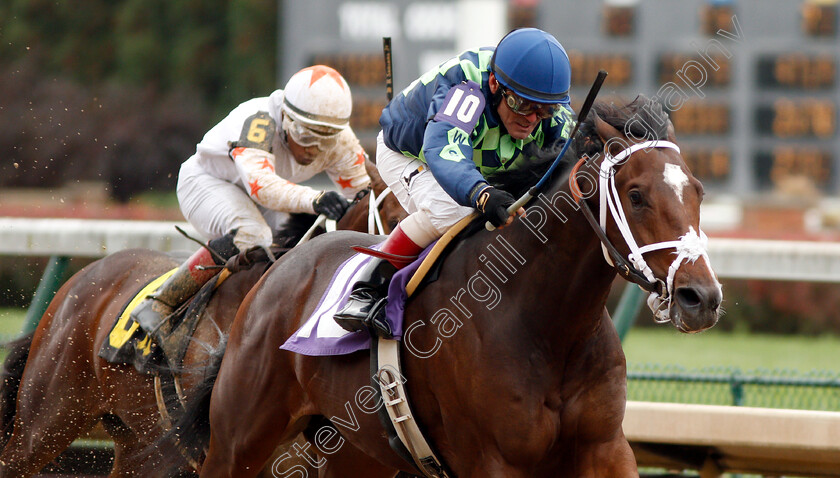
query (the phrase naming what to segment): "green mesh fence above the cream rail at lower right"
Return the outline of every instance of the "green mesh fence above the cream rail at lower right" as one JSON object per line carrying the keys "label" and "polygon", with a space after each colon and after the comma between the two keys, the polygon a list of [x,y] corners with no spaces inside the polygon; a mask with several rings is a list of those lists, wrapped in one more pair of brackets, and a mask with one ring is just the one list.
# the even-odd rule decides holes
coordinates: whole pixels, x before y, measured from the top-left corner
{"label": "green mesh fence above the cream rail at lower right", "polygon": [[840,372],[628,364],[627,399],[840,411]]}

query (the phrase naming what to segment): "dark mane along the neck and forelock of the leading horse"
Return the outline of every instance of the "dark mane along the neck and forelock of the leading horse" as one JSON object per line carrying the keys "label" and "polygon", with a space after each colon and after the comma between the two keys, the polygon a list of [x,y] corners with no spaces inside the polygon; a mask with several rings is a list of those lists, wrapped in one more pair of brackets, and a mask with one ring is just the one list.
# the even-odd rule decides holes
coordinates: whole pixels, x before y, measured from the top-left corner
{"label": "dark mane along the neck and forelock of the leading horse", "polygon": [[[604,143],[595,132],[595,115],[615,129],[638,139],[665,139],[668,135],[668,115],[655,99],[639,95],[626,104],[596,101],[581,123],[578,134],[572,138],[572,144],[552,174],[551,181],[565,177],[581,156],[593,157],[603,151]],[[529,167],[506,171],[498,176],[488,177],[488,180],[494,186],[519,197],[540,180],[562,148],[563,145],[559,144],[554,148],[541,150],[529,143],[522,152],[529,157]]]}

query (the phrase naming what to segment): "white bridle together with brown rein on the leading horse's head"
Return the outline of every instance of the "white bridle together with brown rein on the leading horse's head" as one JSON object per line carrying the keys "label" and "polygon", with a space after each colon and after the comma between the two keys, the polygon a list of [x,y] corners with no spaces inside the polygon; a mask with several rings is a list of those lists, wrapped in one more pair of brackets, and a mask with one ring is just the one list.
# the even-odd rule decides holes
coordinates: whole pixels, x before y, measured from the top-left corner
{"label": "white bridle together with brown rein on the leading horse's head", "polygon": [[[630,223],[624,215],[624,209],[621,207],[621,198],[618,190],[615,187],[615,167],[627,160],[633,153],[647,148],[668,148],[673,149],[677,153],[680,152],[679,146],[664,140],[644,141],[634,144],[615,156],[605,152],[603,162],[601,162],[601,170],[599,176],[599,192],[600,192],[600,222],[595,221],[595,215],[589,204],[584,200],[580,187],[577,184],[577,173],[581,165],[586,161],[586,157],[581,158],[575,164],[572,172],[569,174],[569,188],[575,202],[581,207],[584,217],[592,226],[598,239],[601,241],[601,250],[604,254],[604,260],[607,264],[615,267],[619,275],[636,283],[650,295],[647,299],[648,307],[654,314],[654,320],[657,322],[668,322],[670,320],[671,302],[673,300],[674,276],[677,270],[682,265],[684,260],[694,262],[700,257],[706,259],[706,264],[711,264],[709,260],[706,247],[708,245],[708,238],[703,231],[699,234],[694,231],[693,227],[689,227],[688,232],[681,236],[676,241],[663,241],[646,246],[639,247],[636,243],[633,233],[630,230]],[[622,257],[615,245],[609,240],[606,235],[607,230],[607,209],[618,226],[624,242],[630,249],[627,259]],[[665,282],[657,279],[650,266],[644,259],[644,254],[660,249],[676,249],[677,257],[668,268],[668,277]]]}

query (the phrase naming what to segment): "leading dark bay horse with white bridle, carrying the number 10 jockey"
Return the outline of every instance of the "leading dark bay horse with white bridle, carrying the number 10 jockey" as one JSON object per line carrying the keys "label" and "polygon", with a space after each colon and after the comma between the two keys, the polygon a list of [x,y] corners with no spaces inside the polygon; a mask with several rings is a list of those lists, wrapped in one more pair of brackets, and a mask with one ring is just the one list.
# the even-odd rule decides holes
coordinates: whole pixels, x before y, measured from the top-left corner
{"label": "leading dark bay horse with white bridle, carrying the number 10 jockey", "polygon": [[[449,476],[638,476],[622,431],[625,358],[605,309],[616,274],[626,275],[618,258],[630,255],[632,272],[652,286],[659,321],[694,333],[718,320],[721,287],[699,226],[702,185],[662,107],[643,96],[596,103],[573,141],[583,167],[558,169],[512,225],[450,246],[437,279],[405,305],[409,403]],[[582,214],[587,207],[604,212],[617,255]],[[418,474],[389,447],[370,397],[360,401],[371,383],[366,351],[279,348],[351,246],[379,240],[320,236],[278,260],[245,297],[218,375],[178,425],[176,439],[196,459],[207,450],[201,477],[253,476],[313,417],[332,422],[314,435],[321,478]],[[195,425],[202,417],[209,426]]]}

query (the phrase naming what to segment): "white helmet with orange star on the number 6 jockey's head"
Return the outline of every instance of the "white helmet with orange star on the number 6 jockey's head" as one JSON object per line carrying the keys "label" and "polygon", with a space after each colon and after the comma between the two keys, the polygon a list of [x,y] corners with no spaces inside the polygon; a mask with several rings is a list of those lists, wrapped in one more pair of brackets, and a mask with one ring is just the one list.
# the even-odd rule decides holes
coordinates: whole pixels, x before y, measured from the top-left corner
{"label": "white helmet with orange star on the number 6 jockey's head", "polygon": [[350,86],[341,74],[328,66],[310,66],[286,83],[283,129],[299,144],[314,142],[347,129],[352,109]]}

